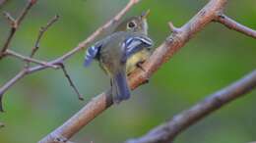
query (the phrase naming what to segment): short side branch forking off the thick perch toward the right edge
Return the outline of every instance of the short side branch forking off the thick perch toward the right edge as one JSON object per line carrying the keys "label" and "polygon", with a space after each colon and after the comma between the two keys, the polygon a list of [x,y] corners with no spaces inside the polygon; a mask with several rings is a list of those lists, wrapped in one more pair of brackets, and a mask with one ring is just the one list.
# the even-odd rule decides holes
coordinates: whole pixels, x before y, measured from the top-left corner
{"label": "short side branch forking off the thick perch toward the right edge", "polygon": [[233,21],[232,19],[228,18],[227,16],[225,16],[222,13],[216,17],[215,21],[220,24],[224,24],[226,27],[228,27],[230,29],[234,29],[236,31],[239,31],[239,32],[247,35],[247,36],[256,38],[256,30],[251,29],[243,24],[239,24],[239,23]]}

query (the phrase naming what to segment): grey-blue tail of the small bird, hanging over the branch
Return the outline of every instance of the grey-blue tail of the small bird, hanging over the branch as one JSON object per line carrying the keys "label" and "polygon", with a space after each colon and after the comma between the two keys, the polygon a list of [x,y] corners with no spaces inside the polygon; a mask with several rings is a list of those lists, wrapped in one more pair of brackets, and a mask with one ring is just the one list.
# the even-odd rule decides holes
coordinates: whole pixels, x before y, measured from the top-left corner
{"label": "grey-blue tail of the small bird, hanging over the branch", "polygon": [[125,71],[119,71],[112,77],[113,102],[119,103],[130,98],[130,89],[127,83]]}

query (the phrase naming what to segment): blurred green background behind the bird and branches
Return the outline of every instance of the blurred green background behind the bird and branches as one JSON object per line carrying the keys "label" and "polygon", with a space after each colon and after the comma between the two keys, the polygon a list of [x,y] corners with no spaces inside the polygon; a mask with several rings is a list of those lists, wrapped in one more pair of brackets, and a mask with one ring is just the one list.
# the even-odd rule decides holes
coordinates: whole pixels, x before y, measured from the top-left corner
{"label": "blurred green background behind the bird and branches", "polygon": [[[26,0],[10,0],[3,11],[17,16]],[[38,0],[17,32],[11,49],[29,54],[38,28],[60,15],[43,37],[37,59],[49,61],[71,50],[101,24],[112,18],[128,0]],[[144,0],[128,14],[150,9],[150,35],[159,45],[170,34],[167,22],[185,24],[207,0]],[[256,29],[256,1],[232,0],[225,14]],[[9,26],[0,16],[0,43]],[[61,71],[45,70],[15,84],[4,98],[6,112],[0,121],[1,143],[33,143],[69,119],[90,99],[109,87],[108,77],[94,63],[83,67],[84,52],[66,62],[67,70],[85,102],[77,99]],[[256,41],[221,24],[210,24],[157,71],[150,83],[132,92],[129,101],[113,106],[76,134],[72,141],[120,143],[138,137],[171,119],[207,95],[240,78],[256,67]],[[13,77],[23,63],[0,61],[0,85]],[[246,143],[256,140],[256,91],[238,99],[191,126],[176,143]]]}

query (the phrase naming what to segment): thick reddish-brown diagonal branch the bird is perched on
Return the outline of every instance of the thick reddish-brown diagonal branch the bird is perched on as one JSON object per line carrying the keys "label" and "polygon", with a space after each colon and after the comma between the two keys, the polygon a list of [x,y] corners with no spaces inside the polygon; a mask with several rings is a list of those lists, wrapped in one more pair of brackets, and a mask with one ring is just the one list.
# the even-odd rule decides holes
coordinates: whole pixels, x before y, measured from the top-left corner
{"label": "thick reddish-brown diagonal branch the bird is perched on", "polygon": [[[194,18],[184,24],[178,32],[173,32],[165,42],[153,53],[150,59],[143,65],[146,71],[135,71],[129,77],[132,89],[143,84],[157,71],[162,64],[168,61],[195,33],[206,24],[211,23],[216,15],[223,9],[226,0],[211,0]],[[32,69],[37,71],[40,68]],[[54,138],[64,136],[69,139],[82,127],[95,119],[100,113],[112,105],[109,92],[103,92],[90,101],[80,112],[67,120],[63,125],[44,137],[40,143],[52,143]]]}

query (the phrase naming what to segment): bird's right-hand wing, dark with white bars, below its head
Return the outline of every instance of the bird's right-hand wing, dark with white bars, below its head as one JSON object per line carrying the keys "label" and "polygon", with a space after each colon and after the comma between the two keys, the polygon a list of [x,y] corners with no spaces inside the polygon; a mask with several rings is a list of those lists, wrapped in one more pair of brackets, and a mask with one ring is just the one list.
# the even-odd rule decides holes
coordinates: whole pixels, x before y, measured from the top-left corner
{"label": "bird's right-hand wing, dark with white bars, below its head", "polygon": [[141,51],[143,48],[149,48],[153,45],[152,39],[143,35],[130,36],[125,39],[123,47],[125,49],[125,54],[122,61],[126,61],[133,54]]}

